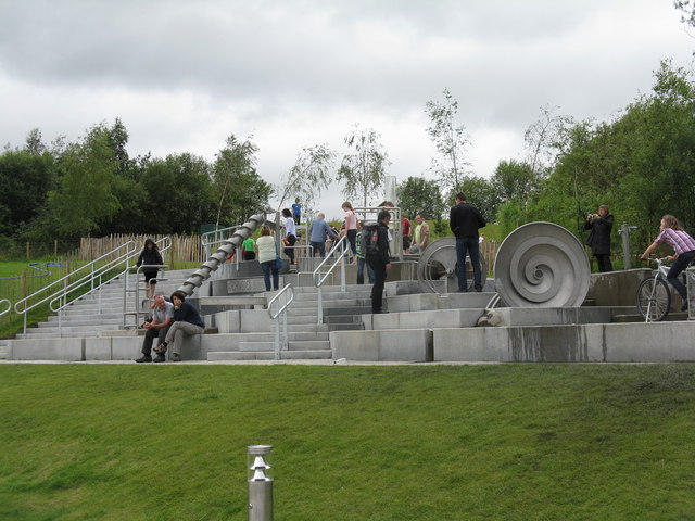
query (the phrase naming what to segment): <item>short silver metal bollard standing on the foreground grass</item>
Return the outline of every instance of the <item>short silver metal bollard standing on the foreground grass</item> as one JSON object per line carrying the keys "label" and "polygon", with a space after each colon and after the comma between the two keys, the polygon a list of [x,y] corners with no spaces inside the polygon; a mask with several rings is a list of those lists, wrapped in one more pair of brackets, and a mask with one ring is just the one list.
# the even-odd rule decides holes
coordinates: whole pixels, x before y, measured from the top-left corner
{"label": "short silver metal bollard standing on the foreground grass", "polygon": [[248,447],[249,521],[273,520],[273,476],[269,465],[271,450],[271,445]]}

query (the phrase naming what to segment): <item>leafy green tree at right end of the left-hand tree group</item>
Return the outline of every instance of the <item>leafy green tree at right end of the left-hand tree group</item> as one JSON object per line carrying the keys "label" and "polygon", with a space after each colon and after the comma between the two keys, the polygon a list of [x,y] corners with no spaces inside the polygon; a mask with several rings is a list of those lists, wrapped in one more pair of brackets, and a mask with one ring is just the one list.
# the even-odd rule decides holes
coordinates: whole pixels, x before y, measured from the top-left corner
{"label": "leafy green tree at right end of the left-hand tree group", "polygon": [[233,226],[265,208],[271,187],[258,177],[255,153],[258,148],[249,136],[239,141],[235,135],[227,138],[226,147],[213,165],[213,190],[217,198],[216,225]]}

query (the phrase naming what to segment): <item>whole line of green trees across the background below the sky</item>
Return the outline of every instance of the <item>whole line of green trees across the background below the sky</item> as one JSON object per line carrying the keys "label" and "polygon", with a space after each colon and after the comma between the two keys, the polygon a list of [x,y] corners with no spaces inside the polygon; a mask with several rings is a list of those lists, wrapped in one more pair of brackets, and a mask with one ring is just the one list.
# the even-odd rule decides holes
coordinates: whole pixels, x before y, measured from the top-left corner
{"label": "whole line of green trees across the background below the sky", "polygon": [[[654,234],[661,215],[695,225],[695,85],[692,72],[662,62],[650,92],[608,122],[574,120],[544,106],[525,134],[523,158],[501,160],[491,177],[471,174],[470,137],[457,125],[458,103],[444,89],[428,101],[427,135],[437,156],[428,171],[397,186],[400,206],[442,224],[463,191],[506,234],[532,220],[579,234],[583,219],[608,204],[619,221]],[[341,182],[346,199],[374,204],[390,165],[374,129],[355,125],[346,152],[328,144],[302,149],[279,186],[256,171],[253,136],[227,138],[208,162],[191,153],[130,157],[116,119],[76,142],[43,143],[34,129],[21,148],[0,155],[0,242],[53,241],[111,233],[191,233],[202,224],[232,226],[267,206],[300,196],[311,212],[323,190]],[[371,194],[371,195],[370,195]],[[377,199],[381,199],[377,195]]]}

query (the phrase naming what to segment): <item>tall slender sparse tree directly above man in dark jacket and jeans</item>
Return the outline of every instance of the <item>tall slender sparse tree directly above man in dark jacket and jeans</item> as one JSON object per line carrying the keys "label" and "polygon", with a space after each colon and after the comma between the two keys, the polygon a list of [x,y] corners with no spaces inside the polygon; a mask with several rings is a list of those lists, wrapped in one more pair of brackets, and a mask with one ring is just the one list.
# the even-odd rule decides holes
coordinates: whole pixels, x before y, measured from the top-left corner
{"label": "tall slender sparse tree directly above man in dark jacket and jeans", "polygon": [[463,180],[464,169],[470,166],[466,161],[466,149],[470,144],[470,139],[464,125],[454,126],[458,102],[448,89],[445,88],[443,93],[443,102],[428,101],[425,104],[425,112],[431,122],[427,134],[441,156],[439,160],[432,160],[432,170],[445,187],[457,191]]}

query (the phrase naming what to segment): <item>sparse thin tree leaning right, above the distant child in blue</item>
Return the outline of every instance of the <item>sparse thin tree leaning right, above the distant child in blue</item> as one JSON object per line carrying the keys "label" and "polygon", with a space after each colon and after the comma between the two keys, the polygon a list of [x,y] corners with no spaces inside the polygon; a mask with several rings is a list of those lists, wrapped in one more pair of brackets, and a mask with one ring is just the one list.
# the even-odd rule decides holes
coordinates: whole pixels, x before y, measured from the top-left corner
{"label": "sparse thin tree leaning right, above the distant child in blue", "polygon": [[316,144],[296,154],[294,166],[289,169],[287,177],[278,188],[280,193],[279,207],[292,195],[300,198],[304,212],[308,212],[321,191],[331,181],[330,170],[336,161],[336,152],[327,144]]}

